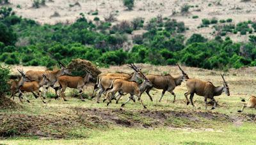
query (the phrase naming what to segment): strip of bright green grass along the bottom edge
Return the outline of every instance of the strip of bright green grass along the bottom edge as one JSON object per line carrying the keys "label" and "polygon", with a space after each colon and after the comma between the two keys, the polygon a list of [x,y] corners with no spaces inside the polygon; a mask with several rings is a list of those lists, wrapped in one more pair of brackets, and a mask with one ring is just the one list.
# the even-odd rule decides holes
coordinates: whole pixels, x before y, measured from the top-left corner
{"label": "strip of bright green grass along the bottom edge", "polygon": [[[124,128],[92,131],[84,139],[47,140],[16,138],[2,144],[255,144],[255,125],[228,125],[220,130],[184,130],[173,128]],[[81,132],[84,134],[84,132]]]}

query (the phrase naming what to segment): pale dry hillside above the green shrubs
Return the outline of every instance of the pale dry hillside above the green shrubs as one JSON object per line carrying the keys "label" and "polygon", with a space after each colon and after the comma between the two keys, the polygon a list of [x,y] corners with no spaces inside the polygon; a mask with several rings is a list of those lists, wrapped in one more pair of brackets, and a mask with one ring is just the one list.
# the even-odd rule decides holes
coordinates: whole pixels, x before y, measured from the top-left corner
{"label": "pale dry hillside above the green shrubs", "polygon": [[[77,2],[77,5],[76,5]],[[175,18],[180,22],[184,22],[189,31],[186,32],[186,38],[193,33],[203,34],[207,38],[214,38],[212,33],[214,29],[211,27],[197,27],[202,23],[203,18],[217,18],[218,20],[232,18],[233,23],[243,22],[247,20],[255,20],[256,3],[255,1],[243,2],[241,0],[136,0],[134,8],[128,11],[122,4],[122,0],[54,0],[54,2],[46,1],[45,6],[40,8],[32,8],[33,1],[30,0],[10,0],[10,5],[17,15],[25,18],[31,18],[41,24],[56,24],[58,22],[71,23],[78,17],[79,13],[92,13],[98,10],[101,20],[108,17],[110,13],[115,13],[118,22],[122,20],[132,21],[136,17],[143,17],[146,21],[150,18],[162,15],[163,17]],[[78,5],[79,4],[79,5]],[[189,13],[181,14],[180,9],[184,4],[192,6]],[[17,6],[20,5],[20,8]],[[54,12],[59,15],[52,17]],[[176,13],[173,15],[173,13]],[[193,16],[198,18],[193,19]],[[93,20],[95,15],[86,15],[86,18]],[[116,23],[118,23],[116,22]],[[143,31],[134,31],[133,34],[141,34]],[[248,36],[236,34],[228,34],[234,41],[248,41]]]}

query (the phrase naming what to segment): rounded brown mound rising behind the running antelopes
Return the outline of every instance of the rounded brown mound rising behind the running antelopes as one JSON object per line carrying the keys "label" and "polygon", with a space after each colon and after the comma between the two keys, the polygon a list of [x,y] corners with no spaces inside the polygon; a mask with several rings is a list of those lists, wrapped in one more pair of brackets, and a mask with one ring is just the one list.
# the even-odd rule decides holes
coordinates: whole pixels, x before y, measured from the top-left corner
{"label": "rounded brown mound rising behind the running antelopes", "polygon": [[92,62],[83,59],[73,59],[67,66],[70,71],[72,71],[72,75],[74,76],[85,76],[86,70],[90,71],[93,75],[93,82],[96,82],[97,76],[101,73],[96,66],[92,64]]}

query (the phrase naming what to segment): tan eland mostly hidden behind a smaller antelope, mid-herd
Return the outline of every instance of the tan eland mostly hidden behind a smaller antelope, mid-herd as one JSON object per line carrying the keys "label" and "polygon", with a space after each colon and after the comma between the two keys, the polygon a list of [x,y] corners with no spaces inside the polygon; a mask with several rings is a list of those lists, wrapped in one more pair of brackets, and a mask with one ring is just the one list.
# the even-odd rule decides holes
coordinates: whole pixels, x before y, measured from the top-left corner
{"label": "tan eland mostly hidden behind a smaller antelope, mid-herd", "polygon": [[[112,81],[114,79],[123,79],[125,81],[136,81],[138,82],[143,76],[141,74],[140,71],[138,71],[139,69],[134,67],[134,64],[131,64],[131,65],[128,65],[129,67],[131,67],[132,69],[134,69],[135,72],[132,72],[131,74],[129,74],[128,77],[125,77],[125,76],[102,76],[102,78],[100,78],[99,80],[99,88],[100,88],[100,92],[99,92],[99,95],[97,97],[97,103],[99,103],[99,99],[102,95],[102,93],[105,93],[106,92],[106,89],[110,87]],[[119,94],[120,95],[123,95],[122,92],[120,91]],[[103,102],[106,100],[106,98],[103,100]]]}

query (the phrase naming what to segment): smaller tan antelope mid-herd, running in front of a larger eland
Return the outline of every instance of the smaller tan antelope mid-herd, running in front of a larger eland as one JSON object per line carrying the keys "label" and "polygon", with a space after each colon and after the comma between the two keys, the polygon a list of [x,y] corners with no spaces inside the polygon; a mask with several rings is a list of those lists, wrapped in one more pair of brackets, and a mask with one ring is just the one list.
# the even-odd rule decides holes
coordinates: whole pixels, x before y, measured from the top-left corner
{"label": "smaller tan antelope mid-herd, running in front of a larger eland", "polygon": [[[141,73],[141,75],[143,76],[143,83],[141,83],[140,85],[138,85],[138,83],[136,82],[133,82],[133,81],[125,81],[123,79],[115,79],[112,81],[111,83],[111,86],[107,89],[108,93],[106,95],[106,98],[108,98],[109,103],[111,103],[111,98],[115,95],[116,92],[120,92],[122,91],[123,93],[129,93],[131,96],[129,97],[129,99],[124,102],[122,104],[121,107],[124,107],[125,104],[127,102],[129,102],[131,99],[133,99],[133,96],[136,95],[138,97],[138,99],[140,99],[140,102],[141,102],[141,105],[144,107],[144,108],[147,108],[144,104],[143,104],[143,101],[141,99],[141,94],[143,92],[145,92],[145,90],[149,87],[152,87],[153,84],[150,82],[149,79],[147,79],[145,77],[145,75],[143,73]],[[112,96],[109,97],[109,93],[112,93]],[[108,106],[107,104],[107,106]]]}

